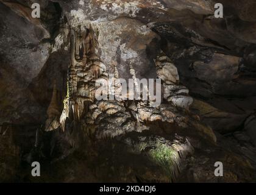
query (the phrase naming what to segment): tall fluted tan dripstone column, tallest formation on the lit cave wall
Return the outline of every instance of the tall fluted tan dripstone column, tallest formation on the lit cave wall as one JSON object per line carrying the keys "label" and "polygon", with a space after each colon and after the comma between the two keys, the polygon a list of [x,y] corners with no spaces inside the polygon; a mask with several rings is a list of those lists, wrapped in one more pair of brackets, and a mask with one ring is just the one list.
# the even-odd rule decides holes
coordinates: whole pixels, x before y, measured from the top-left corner
{"label": "tall fluted tan dripstone column, tallest formation on the lit cave wall", "polygon": [[[91,26],[72,29],[70,36],[71,65],[68,71],[68,92],[60,124],[65,130],[65,120],[79,121],[95,100],[97,79],[106,79],[105,65],[100,61],[97,40]],[[80,56],[82,54],[82,56]],[[106,77],[106,78],[105,78]]]}

